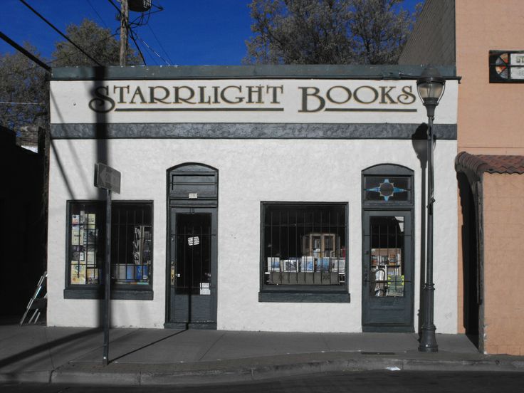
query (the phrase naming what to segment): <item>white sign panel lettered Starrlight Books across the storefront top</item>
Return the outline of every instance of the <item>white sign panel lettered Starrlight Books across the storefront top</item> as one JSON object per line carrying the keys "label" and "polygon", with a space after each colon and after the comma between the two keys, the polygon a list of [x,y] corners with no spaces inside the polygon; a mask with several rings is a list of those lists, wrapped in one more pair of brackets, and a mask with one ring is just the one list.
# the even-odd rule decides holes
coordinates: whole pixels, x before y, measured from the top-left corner
{"label": "white sign panel lettered Starrlight Books across the storefront top", "polygon": [[[454,116],[449,82],[439,112]],[[53,80],[51,98],[53,124],[426,121],[415,80]]]}

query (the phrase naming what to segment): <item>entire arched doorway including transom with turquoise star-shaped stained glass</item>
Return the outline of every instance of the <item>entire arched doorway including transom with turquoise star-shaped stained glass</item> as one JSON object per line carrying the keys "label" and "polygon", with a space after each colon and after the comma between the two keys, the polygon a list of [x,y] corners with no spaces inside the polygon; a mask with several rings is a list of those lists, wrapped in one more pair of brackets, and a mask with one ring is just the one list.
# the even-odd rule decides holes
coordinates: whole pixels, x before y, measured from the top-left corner
{"label": "entire arched doorway including transom with turquoise star-shaped stained glass", "polygon": [[413,171],[362,171],[362,330],[413,332]]}

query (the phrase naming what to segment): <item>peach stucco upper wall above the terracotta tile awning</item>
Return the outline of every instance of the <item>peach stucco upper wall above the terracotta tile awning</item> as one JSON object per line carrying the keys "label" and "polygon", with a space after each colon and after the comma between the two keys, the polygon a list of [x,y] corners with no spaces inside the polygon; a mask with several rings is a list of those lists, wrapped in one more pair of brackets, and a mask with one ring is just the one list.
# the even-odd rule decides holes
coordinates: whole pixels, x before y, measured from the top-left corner
{"label": "peach stucco upper wall above the terracotta tile awning", "polygon": [[458,151],[524,154],[522,84],[489,83],[488,53],[523,50],[522,0],[456,1]]}

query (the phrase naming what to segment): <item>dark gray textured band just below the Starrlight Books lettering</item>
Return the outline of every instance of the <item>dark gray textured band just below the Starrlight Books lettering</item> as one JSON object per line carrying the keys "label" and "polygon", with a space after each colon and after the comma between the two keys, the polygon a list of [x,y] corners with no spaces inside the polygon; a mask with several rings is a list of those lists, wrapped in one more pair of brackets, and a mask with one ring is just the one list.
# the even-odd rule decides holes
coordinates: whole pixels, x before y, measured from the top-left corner
{"label": "dark gray textured band just below the Starrlight Books lettering", "polygon": [[[410,140],[426,125],[395,123],[117,123],[52,124],[53,139],[386,139]],[[421,132],[421,130],[419,130]],[[456,140],[456,125],[434,125],[439,140]]]}

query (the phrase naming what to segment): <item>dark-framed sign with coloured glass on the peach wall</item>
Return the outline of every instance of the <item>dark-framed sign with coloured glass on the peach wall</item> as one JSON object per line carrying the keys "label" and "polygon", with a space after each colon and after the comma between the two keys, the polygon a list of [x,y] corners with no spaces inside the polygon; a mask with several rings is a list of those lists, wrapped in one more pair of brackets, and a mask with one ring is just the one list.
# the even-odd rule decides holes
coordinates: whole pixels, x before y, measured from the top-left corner
{"label": "dark-framed sign with coloured glass on the peach wall", "polygon": [[490,83],[524,83],[524,51],[489,51]]}

